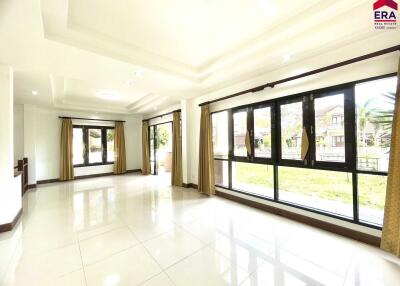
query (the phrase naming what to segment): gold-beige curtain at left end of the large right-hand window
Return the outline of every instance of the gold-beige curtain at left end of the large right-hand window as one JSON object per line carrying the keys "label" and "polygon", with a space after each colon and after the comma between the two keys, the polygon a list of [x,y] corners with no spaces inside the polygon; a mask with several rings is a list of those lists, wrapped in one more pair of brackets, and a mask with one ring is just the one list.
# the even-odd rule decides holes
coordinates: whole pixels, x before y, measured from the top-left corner
{"label": "gold-beige curtain at left end of the large right-hand window", "polygon": [[213,195],[215,194],[214,154],[212,122],[208,104],[201,107],[199,145],[198,190],[200,193]]}

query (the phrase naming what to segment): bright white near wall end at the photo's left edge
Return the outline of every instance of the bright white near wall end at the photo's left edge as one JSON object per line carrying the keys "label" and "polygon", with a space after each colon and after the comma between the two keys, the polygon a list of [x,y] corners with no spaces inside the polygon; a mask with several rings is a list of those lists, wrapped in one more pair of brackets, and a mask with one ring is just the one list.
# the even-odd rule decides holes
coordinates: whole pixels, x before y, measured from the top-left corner
{"label": "bright white near wall end at the photo's left edge", "polygon": [[0,225],[10,223],[22,207],[21,177],[14,177],[13,71],[0,65]]}

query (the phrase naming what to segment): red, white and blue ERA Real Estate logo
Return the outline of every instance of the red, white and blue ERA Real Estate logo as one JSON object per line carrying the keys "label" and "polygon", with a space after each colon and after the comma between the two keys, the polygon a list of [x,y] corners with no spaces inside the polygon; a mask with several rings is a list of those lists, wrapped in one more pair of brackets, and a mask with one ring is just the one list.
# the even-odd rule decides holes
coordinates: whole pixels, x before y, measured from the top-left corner
{"label": "red, white and blue ERA Real Estate logo", "polygon": [[398,4],[395,0],[378,0],[374,3],[376,29],[396,29]]}

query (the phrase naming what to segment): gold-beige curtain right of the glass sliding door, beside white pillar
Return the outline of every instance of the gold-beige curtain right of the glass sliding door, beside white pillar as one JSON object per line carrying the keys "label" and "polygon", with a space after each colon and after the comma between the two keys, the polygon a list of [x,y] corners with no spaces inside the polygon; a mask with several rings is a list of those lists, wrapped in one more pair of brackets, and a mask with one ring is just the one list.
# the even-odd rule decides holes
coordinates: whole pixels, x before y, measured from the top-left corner
{"label": "gold-beige curtain right of the glass sliding door, beside white pillar", "polygon": [[172,122],[172,174],[171,185],[182,187],[181,113],[175,111]]}

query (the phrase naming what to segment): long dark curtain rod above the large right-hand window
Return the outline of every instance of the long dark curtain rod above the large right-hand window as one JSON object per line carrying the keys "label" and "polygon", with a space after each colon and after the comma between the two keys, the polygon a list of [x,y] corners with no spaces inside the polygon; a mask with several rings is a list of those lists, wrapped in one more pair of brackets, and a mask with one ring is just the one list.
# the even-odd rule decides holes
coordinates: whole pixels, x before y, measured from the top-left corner
{"label": "long dark curtain rod above the large right-hand window", "polygon": [[263,85],[260,85],[260,86],[257,86],[257,87],[253,87],[253,88],[250,88],[250,89],[247,89],[247,90],[244,90],[244,91],[240,91],[240,92],[237,92],[237,93],[234,93],[234,94],[231,94],[231,95],[227,95],[227,96],[224,96],[224,97],[221,97],[221,98],[217,98],[217,99],[214,99],[214,100],[206,101],[206,102],[200,103],[199,106],[215,103],[215,102],[218,102],[218,101],[222,101],[222,100],[225,100],[225,99],[229,99],[229,98],[236,97],[236,96],[243,95],[243,94],[250,93],[250,92],[261,91],[261,90],[263,90],[263,89],[265,89],[267,87],[274,88],[278,84],[282,84],[282,83],[289,82],[289,81],[292,81],[292,80],[295,80],[295,79],[307,77],[307,76],[314,75],[314,74],[317,74],[317,73],[322,73],[322,72],[325,72],[325,71],[333,70],[333,69],[336,69],[336,68],[340,68],[340,67],[343,67],[343,66],[347,66],[347,65],[350,65],[350,64],[354,64],[354,63],[357,63],[357,62],[368,60],[368,59],[371,59],[371,58],[379,57],[379,56],[382,56],[382,55],[385,55],[385,54],[389,54],[389,53],[393,53],[393,52],[396,52],[396,51],[400,51],[400,45],[393,46],[393,47],[390,47],[390,48],[387,48],[387,49],[383,49],[383,50],[379,50],[379,51],[376,51],[376,52],[373,52],[373,53],[370,53],[370,54],[366,54],[366,55],[363,55],[363,56],[359,56],[359,57],[356,57],[356,58],[352,58],[352,59],[349,59],[349,60],[346,60],[346,61],[342,61],[342,62],[333,64],[333,65],[329,65],[329,66],[325,66],[325,67],[322,67],[322,68],[318,68],[318,69],[315,69],[315,70],[312,70],[312,71],[309,71],[309,72],[301,73],[301,74],[298,74],[298,75],[295,75],[295,76],[291,76],[291,77],[287,77],[287,78],[280,79],[280,80],[277,80],[277,81],[273,81],[273,82],[270,82],[270,83],[266,83],[266,84],[263,84]]}

